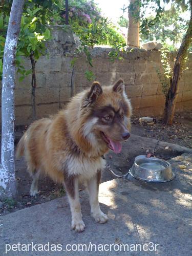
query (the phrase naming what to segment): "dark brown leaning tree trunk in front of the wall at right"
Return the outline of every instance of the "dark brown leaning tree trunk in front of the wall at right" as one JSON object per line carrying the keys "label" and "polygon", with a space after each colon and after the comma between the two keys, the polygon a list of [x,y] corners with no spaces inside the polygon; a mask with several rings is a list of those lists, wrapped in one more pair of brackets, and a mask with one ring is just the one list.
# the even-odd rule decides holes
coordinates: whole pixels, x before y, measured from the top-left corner
{"label": "dark brown leaning tree trunk in front of the wall at right", "polygon": [[184,59],[187,56],[187,50],[192,41],[192,0],[190,0],[190,21],[188,25],[187,32],[183,38],[179,51],[177,53],[172,83],[165,101],[164,109],[164,123],[172,125],[175,113],[175,105],[179,89],[179,79],[183,71]]}

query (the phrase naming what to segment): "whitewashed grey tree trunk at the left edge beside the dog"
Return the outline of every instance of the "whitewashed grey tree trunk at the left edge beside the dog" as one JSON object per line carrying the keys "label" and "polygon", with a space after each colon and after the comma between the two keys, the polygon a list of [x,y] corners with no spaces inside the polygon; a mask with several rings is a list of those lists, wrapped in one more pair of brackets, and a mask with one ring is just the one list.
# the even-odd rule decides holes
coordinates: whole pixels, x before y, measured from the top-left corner
{"label": "whitewashed grey tree trunk at the left edge beside the dog", "polygon": [[2,83],[2,158],[0,168],[0,197],[16,194],[14,163],[14,89],[15,54],[24,0],[13,0],[4,48]]}

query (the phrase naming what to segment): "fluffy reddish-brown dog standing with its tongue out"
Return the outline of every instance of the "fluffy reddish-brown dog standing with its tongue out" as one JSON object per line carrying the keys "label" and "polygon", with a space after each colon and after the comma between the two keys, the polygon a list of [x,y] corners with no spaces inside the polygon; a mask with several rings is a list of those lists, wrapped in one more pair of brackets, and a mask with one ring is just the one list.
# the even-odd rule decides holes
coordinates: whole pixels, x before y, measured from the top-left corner
{"label": "fluffy reddish-brown dog standing with its tongue out", "polygon": [[122,79],[113,86],[101,87],[93,82],[91,89],[74,96],[65,110],[51,118],[34,121],[20,139],[16,158],[23,155],[33,178],[30,195],[38,192],[40,173],[65,186],[72,214],[72,229],[84,230],[79,202],[79,183],[87,186],[91,216],[105,223],[98,188],[109,150],[120,153],[121,143],[130,137],[131,103]]}

